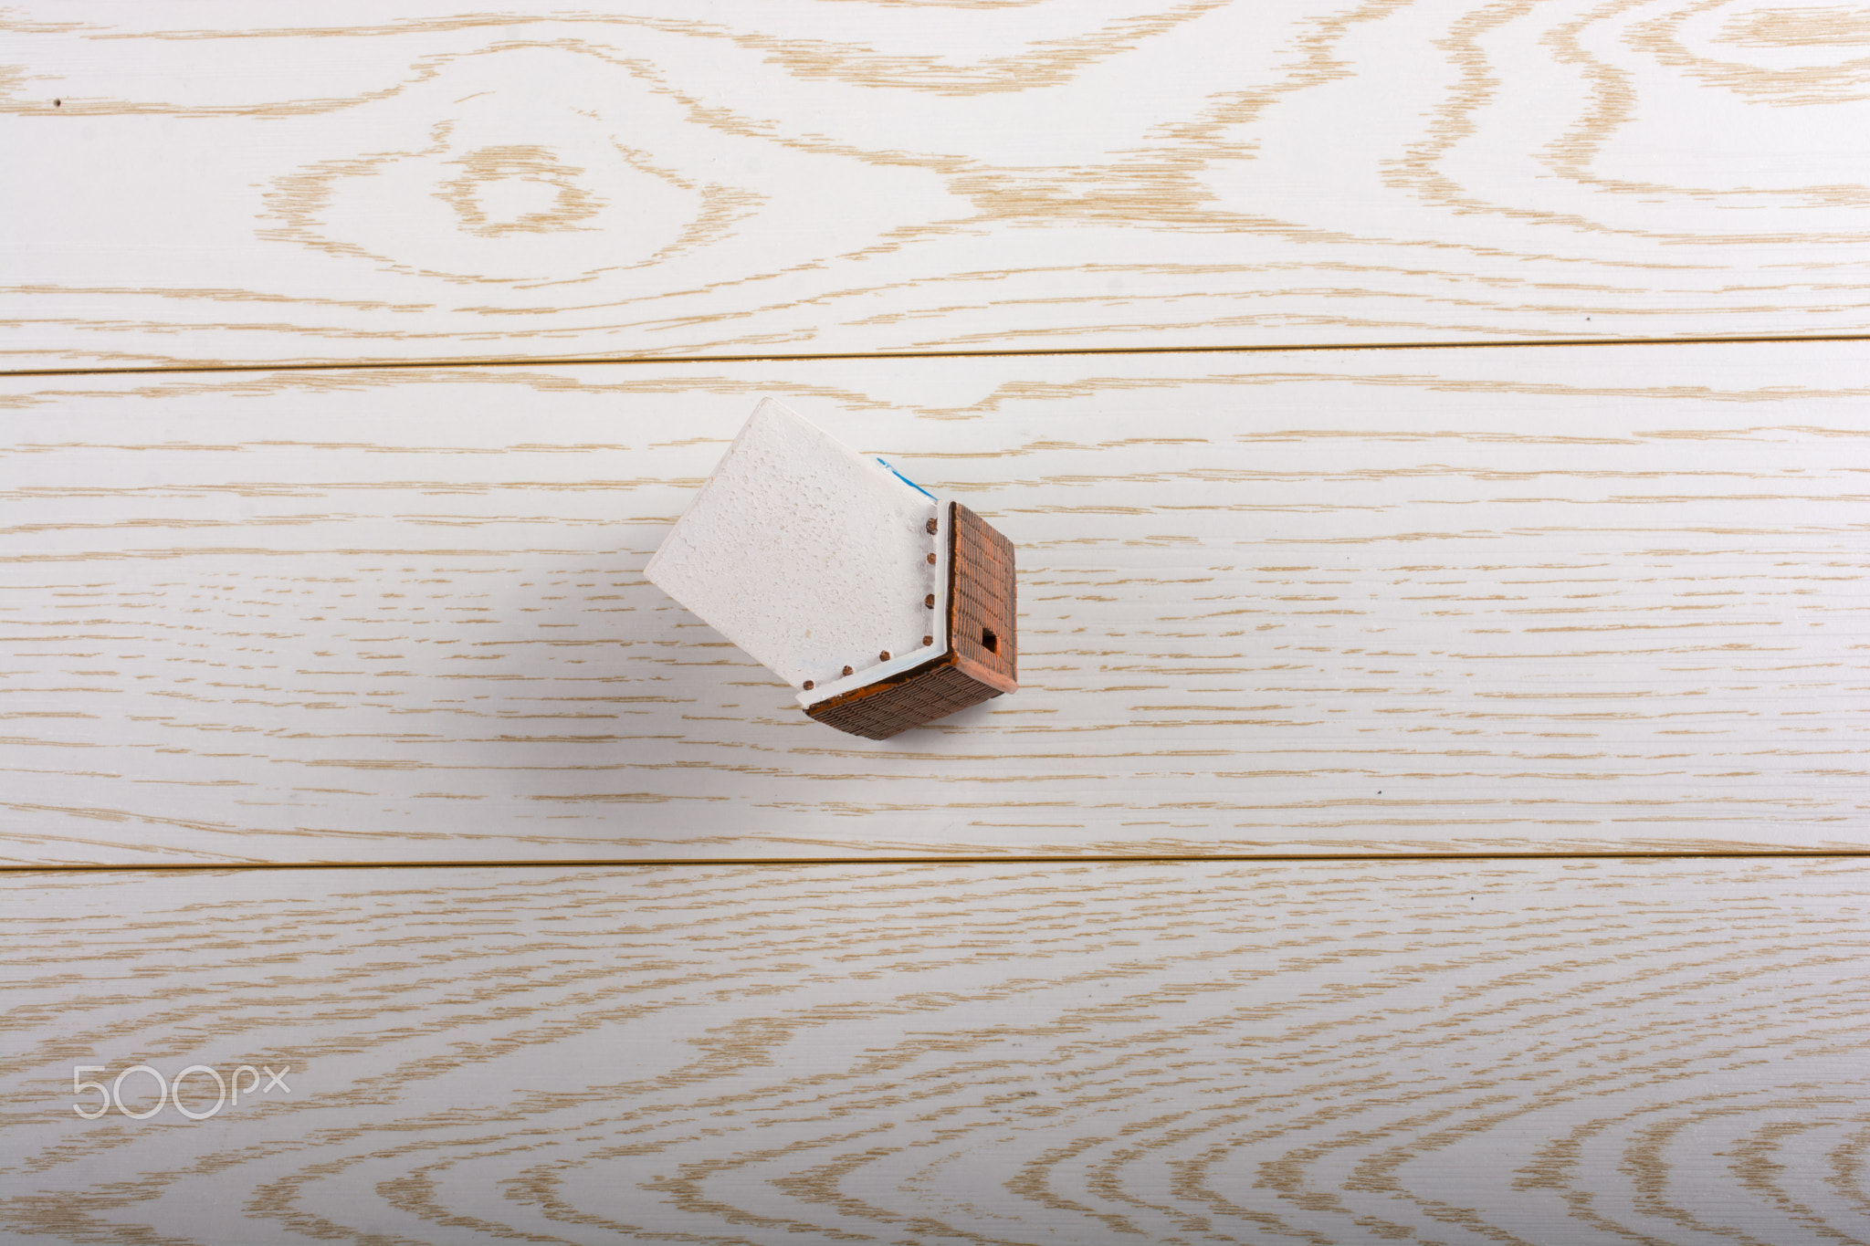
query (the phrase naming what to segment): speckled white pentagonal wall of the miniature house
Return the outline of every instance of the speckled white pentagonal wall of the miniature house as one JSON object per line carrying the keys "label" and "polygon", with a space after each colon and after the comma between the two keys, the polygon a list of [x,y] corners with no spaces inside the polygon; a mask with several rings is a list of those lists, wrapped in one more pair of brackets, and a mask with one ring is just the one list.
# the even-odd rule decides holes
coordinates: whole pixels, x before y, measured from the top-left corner
{"label": "speckled white pentagonal wall of the miniature house", "polygon": [[787,684],[847,665],[862,684],[931,631],[931,517],[933,499],[769,398],[643,573]]}

